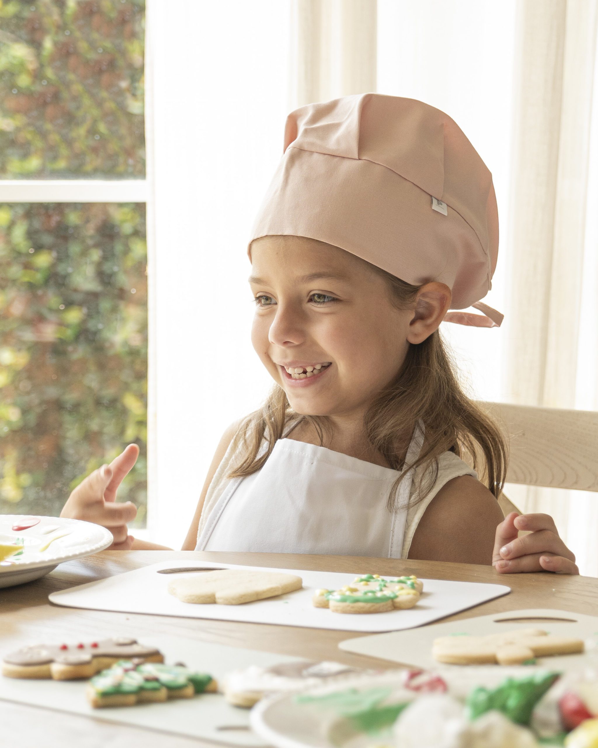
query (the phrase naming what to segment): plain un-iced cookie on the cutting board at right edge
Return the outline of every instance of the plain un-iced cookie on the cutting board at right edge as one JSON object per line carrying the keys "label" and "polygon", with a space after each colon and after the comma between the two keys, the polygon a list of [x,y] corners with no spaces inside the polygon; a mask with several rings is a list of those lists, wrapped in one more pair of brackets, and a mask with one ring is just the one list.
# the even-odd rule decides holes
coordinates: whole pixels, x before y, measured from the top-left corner
{"label": "plain un-iced cookie on the cutting board at right edge", "polygon": [[432,646],[434,659],[451,665],[520,665],[534,657],[583,651],[581,639],[552,637],[540,628],[520,628],[486,637],[440,637]]}

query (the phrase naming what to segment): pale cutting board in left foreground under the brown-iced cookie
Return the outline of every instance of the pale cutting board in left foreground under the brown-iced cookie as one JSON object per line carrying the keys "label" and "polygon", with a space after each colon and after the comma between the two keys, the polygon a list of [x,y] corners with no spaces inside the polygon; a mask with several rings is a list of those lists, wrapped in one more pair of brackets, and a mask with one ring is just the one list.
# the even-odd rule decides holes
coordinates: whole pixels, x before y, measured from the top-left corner
{"label": "pale cutting board in left foreground under the brown-iced cookie", "polygon": [[[237,668],[250,665],[269,667],[300,659],[285,654],[253,652],[251,649],[237,649],[223,644],[211,644],[165,634],[142,637],[141,642],[157,646],[167,663],[184,662],[190,668],[209,672],[217,680]],[[0,657],[25,644],[37,643],[21,641],[9,646],[4,639]],[[19,680],[0,675],[0,699],[83,714],[85,717],[93,717],[94,720],[188,735],[191,738],[252,748],[267,745],[266,741],[250,729],[249,709],[229,705],[220,693],[204,693],[194,696],[193,699],[173,699],[158,704],[93,709],[85,698],[86,684],[87,681]],[[90,729],[93,729],[93,726],[90,725]]]}

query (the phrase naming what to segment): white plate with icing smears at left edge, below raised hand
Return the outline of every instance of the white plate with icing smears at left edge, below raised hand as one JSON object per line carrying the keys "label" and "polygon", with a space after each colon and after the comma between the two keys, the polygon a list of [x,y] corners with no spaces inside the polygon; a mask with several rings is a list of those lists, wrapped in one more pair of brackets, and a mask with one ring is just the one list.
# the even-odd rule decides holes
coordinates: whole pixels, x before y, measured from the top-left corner
{"label": "white plate with icing smears at left edge, below raised hand", "polygon": [[[14,529],[19,527],[25,529]],[[24,545],[18,556],[0,561],[0,587],[43,577],[63,561],[103,551],[112,540],[105,527],[78,519],[0,515],[0,544]]]}

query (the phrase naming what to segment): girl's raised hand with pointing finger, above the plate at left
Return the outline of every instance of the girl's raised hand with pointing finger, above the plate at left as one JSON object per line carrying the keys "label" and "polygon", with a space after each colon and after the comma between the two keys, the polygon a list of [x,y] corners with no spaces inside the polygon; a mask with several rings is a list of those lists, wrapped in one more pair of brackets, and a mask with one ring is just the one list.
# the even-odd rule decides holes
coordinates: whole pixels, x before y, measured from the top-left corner
{"label": "girl's raised hand with pointing finger, above the plate at left", "polygon": [[110,465],[102,465],[87,476],[70,494],[63,506],[61,517],[82,519],[108,528],[114,536],[109,551],[129,551],[133,536],[129,535],[126,524],[135,519],[137,507],[130,501],[117,504],[117,488],[123,478],[137,462],[139,447],[129,444]]}

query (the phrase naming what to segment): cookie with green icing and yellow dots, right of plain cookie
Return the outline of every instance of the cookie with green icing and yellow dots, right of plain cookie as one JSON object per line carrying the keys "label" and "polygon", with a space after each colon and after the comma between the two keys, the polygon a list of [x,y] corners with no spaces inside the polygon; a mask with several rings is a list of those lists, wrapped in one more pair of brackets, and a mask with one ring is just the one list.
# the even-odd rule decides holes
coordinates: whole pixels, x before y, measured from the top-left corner
{"label": "cookie with green icing and yellow dots, right of plain cookie", "polygon": [[417,577],[383,579],[380,574],[363,574],[341,589],[318,589],[315,607],[329,607],[333,613],[386,613],[413,607],[424,585]]}

